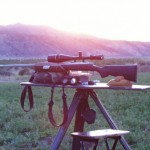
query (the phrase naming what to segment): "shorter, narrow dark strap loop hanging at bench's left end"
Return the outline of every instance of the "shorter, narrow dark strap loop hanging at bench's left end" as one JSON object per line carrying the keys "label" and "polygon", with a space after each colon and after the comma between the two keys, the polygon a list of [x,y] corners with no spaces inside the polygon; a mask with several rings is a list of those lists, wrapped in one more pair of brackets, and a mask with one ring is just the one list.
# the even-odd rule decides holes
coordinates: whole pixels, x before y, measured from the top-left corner
{"label": "shorter, narrow dark strap loop hanging at bench's left end", "polygon": [[[29,79],[29,82],[32,82],[33,79],[34,79],[34,74]],[[29,97],[29,109],[28,110],[25,109],[25,107],[24,107],[24,103],[25,103],[25,100],[26,100],[26,94],[27,93],[28,93],[28,97]],[[21,97],[20,97],[20,104],[21,104],[22,109],[25,112],[28,112],[28,111],[30,111],[33,108],[34,101],[33,101],[33,93],[32,93],[31,86],[26,85],[24,87],[24,89],[22,90]]]}

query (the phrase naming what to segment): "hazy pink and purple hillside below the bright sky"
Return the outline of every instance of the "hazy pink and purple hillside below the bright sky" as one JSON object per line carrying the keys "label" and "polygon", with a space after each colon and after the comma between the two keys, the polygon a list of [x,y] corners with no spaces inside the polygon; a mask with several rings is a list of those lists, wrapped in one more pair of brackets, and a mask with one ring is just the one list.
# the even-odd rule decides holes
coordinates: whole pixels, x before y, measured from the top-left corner
{"label": "hazy pink and purple hillside below the bright sky", "polygon": [[100,39],[44,26],[0,26],[0,59],[46,58],[50,54],[103,54],[105,57],[150,57],[150,42]]}

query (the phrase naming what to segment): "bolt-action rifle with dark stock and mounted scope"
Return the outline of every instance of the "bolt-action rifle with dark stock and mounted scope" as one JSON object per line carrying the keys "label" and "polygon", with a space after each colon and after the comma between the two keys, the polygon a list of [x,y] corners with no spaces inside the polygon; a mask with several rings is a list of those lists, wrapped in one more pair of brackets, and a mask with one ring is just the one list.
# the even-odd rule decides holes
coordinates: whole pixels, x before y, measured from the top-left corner
{"label": "bolt-action rifle with dark stock and mounted scope", "polygon": [[[47,62],[36,63],[36,64],[8,64],[0,65],[3,67],[30,67],[35,71],[39,72],[55,72],[69,75],[70,71],[96,71],[102,78],[109,75],[111,76],[124,76],[129,81],[137,81],[137,65],[105,65],[97,66],[92,62],[86,62],[86,59],[90,60],[102,60],[103,55],[91,55],[89,57],[83,57],[82,53],[79,52],[79,56],[69,55],[51,55],[48,56]],[[73,62],[66,62],[73,60]],[[77,60],[80,60],[80,62]]]}

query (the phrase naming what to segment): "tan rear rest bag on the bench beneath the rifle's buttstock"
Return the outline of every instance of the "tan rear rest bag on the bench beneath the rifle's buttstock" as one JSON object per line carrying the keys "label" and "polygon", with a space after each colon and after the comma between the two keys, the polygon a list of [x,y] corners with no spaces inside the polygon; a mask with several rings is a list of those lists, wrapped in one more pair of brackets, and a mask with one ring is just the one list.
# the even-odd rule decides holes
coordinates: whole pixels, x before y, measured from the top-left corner
{"label": "tan rear rest bag on the bench beneath the rifle's buttstock", "polygon": [[132,86],[131,81],[126,80],[123,76],[117,76],[111,79],[108,83],[109,86]]}

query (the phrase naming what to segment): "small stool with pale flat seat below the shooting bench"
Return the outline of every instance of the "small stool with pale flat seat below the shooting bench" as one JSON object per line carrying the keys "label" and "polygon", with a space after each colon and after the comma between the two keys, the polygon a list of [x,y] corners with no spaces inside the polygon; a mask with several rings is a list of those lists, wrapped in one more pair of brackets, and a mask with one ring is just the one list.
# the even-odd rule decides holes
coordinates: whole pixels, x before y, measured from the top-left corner
{"label": "small stool with pale flat seat below the shooting bench", "polygon": [[74,138],[78,138],[80,140],[82,150],[84,150],[84,144],[83,144],[84,141],[95,143],[93,150],[96,150],[99,139],[104,139],[107,150],[110,150],[109,144],[107,141],[108,138],[112,138],[115,140],[112,146],[112,150],[115,150],[117,142],[121,138],[121,136],[124,134],[128,134],[128,133],[129,131],[124,131],[124,130],[103,129],[103,130],[94,130],[94,131],[88,131],[88,132],[74,132],[74,133],[71,133],[71,135]]}

